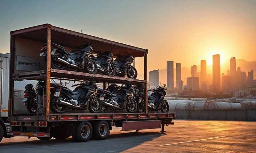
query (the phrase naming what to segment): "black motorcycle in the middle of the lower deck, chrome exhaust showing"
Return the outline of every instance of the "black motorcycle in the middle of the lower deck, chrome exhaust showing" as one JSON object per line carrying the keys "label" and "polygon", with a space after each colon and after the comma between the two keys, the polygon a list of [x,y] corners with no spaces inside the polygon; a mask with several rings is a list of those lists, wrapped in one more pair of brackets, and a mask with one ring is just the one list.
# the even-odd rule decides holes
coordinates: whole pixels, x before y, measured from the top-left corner
{"label": "black motorcycle in the middle of the lower deck, chrome exhaust showing", "polygon": [[[112,91],[112,92],[111,92]],[[133,98],[134,89],[131,82],[121,86],[110,85],[107,90],[98,89],[102,101],[102,113],[112,110],[124,110],[129,113],[137,111],[137,104]]]}

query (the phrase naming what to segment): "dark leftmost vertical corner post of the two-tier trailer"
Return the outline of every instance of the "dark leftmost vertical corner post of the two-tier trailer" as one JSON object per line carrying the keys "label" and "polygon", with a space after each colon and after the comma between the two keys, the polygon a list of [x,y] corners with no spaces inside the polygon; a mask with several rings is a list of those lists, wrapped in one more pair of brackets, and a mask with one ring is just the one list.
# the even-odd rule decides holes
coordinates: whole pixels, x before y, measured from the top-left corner
{"label": "dark leftmost vertical corner post of the two-tier trailer", "polygon": [[9,80],[9,104],[8,104],[8,116],[12,116],[12,108],[13,108],[13,86],[14,81],[12,80],[12,74],[14,73],[14,63],[15,62],[15,36],[12,36],[11,33],[11,44],[10,44],[10,53],[11,53],[11,59],[10,59],[10,80]]}

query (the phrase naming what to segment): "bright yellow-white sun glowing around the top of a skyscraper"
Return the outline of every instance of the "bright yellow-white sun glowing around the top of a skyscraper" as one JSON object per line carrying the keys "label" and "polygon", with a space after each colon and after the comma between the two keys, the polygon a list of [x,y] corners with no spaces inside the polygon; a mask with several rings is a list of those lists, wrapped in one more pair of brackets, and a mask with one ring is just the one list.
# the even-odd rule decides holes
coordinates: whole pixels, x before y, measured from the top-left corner
{"label": "bright yellow-white sun glowing around the top of a skyscraper", "polygon": [[206,54],[207,65],[212,65],[212,55],[216,55],[216,54],[220,54],[220,64],[223,64],[225,62],[226,51],[221,48],[211,48],[207,51],[207,54]]}

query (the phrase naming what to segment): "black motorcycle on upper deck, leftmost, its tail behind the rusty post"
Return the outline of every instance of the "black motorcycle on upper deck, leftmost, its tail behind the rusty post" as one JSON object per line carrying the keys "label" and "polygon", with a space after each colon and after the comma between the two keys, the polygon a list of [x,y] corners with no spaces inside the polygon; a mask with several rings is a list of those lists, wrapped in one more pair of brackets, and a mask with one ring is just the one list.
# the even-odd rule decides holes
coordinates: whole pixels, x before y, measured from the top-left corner
{"label": "black motorcycle on upper deck, leftmost, its tail behind the rusty post", "polygon": [[[51,49],[51,67],[54,69],[71,69],[84,71],[91,74],[97,72],[96,62],[92,60],[92,47],[84,43],[80,47],[75,47],[68,52],[65,47],[52,43]],[[40,56],[46,60],[47,47],[41,48]]]}

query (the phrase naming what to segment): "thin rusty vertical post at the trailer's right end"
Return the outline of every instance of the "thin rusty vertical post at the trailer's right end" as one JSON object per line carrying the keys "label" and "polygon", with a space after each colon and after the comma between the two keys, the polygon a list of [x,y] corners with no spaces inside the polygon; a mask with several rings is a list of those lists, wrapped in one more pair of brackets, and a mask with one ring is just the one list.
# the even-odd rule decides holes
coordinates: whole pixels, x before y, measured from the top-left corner
{"label": "thin rusty vertical post at the trailer's right end", "polygon": [[146,80],[144,84],[145,113],[148,113],[148,49],[144,53],[144,80]]}

